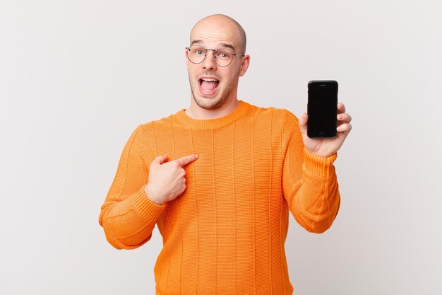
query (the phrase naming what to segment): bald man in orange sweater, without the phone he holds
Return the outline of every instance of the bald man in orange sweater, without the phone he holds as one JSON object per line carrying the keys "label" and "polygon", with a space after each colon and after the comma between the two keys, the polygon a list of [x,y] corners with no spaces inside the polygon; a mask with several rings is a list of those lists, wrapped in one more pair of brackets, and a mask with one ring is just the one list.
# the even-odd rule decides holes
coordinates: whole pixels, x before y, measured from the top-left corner
{"label": "bald man in orange sweater, without the phone he holds", "polygon": [[140,125],[124,147],[100,224],[115,248],[163,238],[156,294],[292,294],[289,211],[307,231],[330,228],[340,204],[333,161],[350,132],[338,105],[335,139],[306,136],[285,109],[237,99],[250,57],[232,18],[191,30],[191,105]]}

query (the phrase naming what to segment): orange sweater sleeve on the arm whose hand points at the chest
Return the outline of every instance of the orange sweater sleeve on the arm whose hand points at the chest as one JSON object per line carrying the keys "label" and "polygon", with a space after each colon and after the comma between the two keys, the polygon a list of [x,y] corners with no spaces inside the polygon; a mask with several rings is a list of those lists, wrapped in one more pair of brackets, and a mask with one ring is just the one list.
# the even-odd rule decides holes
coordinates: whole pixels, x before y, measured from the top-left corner
{"label": "orange sweater sleeve on the arm whose hand points at the chest", "polygon": [[166,207],[151,202],[145,194],[148,165],[142,153],[143,134],[138,126],[124,146],[99,217],[107,241],[117,249],[138,248],[149,241]]}

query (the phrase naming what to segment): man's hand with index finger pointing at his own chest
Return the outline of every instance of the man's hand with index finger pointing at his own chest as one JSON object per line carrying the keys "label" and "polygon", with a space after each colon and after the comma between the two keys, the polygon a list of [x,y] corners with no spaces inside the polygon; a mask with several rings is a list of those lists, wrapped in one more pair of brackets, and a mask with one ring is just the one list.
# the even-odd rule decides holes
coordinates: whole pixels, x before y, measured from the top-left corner
{"label": "man's hand with index finger pointing at his own chest", "polygon": [[191,154],[167,162],[167,156],[157,156],[150,163],[149,180],[144,191],[155,204],[165,204],[186,190],[184,166],[195,161],[197,154]]}

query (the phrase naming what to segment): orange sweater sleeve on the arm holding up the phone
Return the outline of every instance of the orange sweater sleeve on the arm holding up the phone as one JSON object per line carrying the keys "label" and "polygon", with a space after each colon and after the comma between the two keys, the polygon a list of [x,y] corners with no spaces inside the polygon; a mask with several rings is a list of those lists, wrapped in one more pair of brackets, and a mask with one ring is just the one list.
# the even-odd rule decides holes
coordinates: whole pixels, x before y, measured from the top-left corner
{"label": "orange sweater sleeve on the arm holding up the phone", "polygon": [[282,191],[294,219],[307,231],[323,233],[332,225],[340,207],[336,178],[337,154],[321,157],[304,149],[297,117],[286,112],[283,146],[286,146]]}

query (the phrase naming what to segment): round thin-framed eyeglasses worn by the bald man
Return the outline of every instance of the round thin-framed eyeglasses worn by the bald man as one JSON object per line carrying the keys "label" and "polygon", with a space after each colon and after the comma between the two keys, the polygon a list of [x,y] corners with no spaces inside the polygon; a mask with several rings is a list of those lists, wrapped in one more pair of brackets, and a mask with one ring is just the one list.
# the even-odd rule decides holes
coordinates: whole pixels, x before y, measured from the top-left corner
{"label": "round thin-framed eyeglasses worn by the bald man", "polygon": [[[186,47],[186,50],[188,50],[187,58],[193,64],[201,64],[201,62],[203,62],[203,60],[205,59],[207,51],[210,49],[205,49],[201,45],[192,45],[191,47]],[[232,63],[233,57],[235,55],[246,55],[241,53],[234,53],[228,47],[222,47],[220,49],[212,51],[213,57],[215,57],[215,62],[218,66],[228,66]]]}

